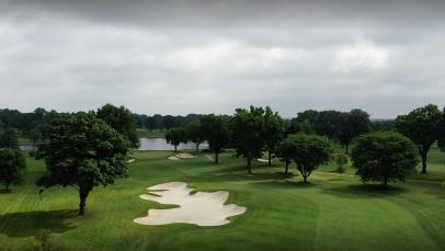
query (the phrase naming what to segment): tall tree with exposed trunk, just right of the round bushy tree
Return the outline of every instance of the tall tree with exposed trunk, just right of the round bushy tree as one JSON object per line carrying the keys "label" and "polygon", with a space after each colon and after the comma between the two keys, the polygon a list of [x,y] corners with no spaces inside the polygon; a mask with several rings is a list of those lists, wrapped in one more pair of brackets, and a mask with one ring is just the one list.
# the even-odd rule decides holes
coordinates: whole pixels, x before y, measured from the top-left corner
{"label": "tall tree with exposed trunk, just right of the round bushy tree", "polygon": [[415,109],[407,115],[396,118],[396,128],[399,133],[410,138],[422,158],[422,172],[426,173],[426,158],[431,146],[441,137],[441,122],[443,113],[437,105],[429,104]]}

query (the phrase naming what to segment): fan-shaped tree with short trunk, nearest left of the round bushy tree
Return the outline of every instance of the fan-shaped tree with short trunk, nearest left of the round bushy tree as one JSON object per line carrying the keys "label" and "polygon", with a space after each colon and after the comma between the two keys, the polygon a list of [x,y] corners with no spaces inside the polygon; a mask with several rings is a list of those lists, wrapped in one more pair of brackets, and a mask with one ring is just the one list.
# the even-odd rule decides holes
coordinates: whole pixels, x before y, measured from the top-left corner
{"label": "fan-shaped tree with short trunk, nearest left of the round bushy tree", "polygon": [[331,159],[332,150],[329,141],[321,136],[289,135],[282,144],[286,146],[285,156],[295,162],[305,183],[318,166]]}

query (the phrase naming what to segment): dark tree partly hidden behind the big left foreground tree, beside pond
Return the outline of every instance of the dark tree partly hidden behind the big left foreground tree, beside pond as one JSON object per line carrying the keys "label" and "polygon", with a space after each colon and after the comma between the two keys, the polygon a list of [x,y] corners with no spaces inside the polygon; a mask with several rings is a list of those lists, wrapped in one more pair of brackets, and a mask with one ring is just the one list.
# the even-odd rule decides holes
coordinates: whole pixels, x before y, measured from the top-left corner
{"label": "dark tree partly hidden behind the big left foreground tree, beside pond", "polygon": [[122,134],[132,148],[139,148],[139,137],[136,132],[136,121],[132,112],[124,106],[105,104],[98,110],[98,117]]}

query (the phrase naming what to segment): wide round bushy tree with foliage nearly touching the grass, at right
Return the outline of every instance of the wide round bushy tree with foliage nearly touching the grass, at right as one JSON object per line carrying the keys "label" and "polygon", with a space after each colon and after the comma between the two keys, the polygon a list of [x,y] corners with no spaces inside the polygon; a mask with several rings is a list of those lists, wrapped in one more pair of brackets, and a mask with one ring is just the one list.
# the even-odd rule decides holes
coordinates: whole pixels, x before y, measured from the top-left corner
{"label": "wide round bushy tree with foliage nearly touching the grass, at right", "polygon": [[363,135],[355,139],[352,149],[355,175],[364,183],[381,181],[384,186],[414,172],[417,150],[413,142],[395,132],[378,132]]}

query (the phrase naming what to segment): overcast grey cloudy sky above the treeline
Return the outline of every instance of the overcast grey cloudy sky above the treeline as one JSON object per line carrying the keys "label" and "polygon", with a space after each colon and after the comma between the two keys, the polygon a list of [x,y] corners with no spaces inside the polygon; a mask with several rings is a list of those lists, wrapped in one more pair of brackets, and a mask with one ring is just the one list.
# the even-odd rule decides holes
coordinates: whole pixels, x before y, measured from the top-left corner
{"label": "overcast grey cloudy sky above the treeline", "polygon": [[443,0],[0,0],[0,107],[445,105]]}

